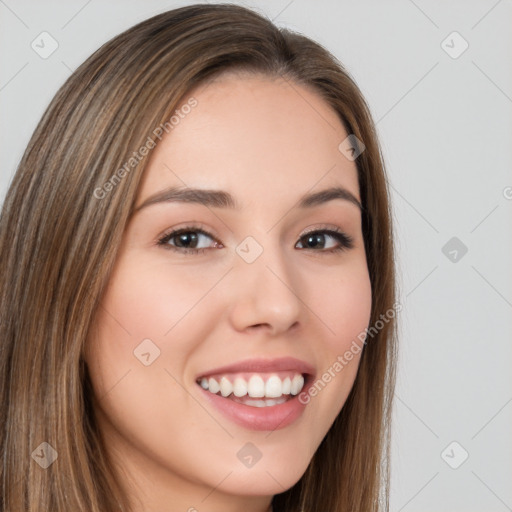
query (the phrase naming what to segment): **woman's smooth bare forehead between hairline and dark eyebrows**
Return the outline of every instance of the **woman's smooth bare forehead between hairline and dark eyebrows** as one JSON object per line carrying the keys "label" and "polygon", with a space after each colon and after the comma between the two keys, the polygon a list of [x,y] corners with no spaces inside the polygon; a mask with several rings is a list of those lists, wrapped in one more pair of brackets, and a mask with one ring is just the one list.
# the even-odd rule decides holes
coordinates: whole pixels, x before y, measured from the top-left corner
{"label": "woman's smooth bare forehead between hairline and dark eyebrows", "polygon": [[197,105],[153,150],[139,202],[173,185],[222,188],[241,204],[317,185],[359,197],[356,165],[338,149],[348,134],[316,92],[284,78],[229,73],[183,103],[191,97]]}

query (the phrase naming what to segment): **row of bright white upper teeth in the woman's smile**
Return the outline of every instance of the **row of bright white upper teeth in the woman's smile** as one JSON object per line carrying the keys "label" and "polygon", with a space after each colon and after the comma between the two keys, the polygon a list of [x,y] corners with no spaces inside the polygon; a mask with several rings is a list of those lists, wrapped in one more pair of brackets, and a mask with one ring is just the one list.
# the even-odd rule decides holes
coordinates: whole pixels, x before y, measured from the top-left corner
{"label": "row of bright white upper teeth in the woman's smile", "polygon": [[[277,375],[271,375],[264,381],[261,375],[252,375],[249,382],[243,377],[236,377],[232,382],[226,375],[223,375],[220,381],[213,377],[203,377],[198,383],[203,389],[213,394],[218,394],[220,391],[223,397],[233,395],[231,398],[241,398],[248,395],[250,398],[273,399],[290,394],[298,395],[304,387],[304,377],[299,373],[296,373],[292,379],[290,377],[281,379]],[[269,400],[256,400],[255,402],[264,404]],[[244,401],[244,403],[246,402]]]}

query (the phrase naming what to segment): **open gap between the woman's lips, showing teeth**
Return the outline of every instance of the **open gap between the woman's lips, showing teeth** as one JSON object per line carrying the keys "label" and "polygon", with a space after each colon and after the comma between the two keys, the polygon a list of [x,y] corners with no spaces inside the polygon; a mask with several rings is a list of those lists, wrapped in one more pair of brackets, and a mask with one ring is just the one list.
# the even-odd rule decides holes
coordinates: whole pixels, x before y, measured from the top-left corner
{"label": "open gap between the woman's lips, showing teeth", "polygon": [[306,375],[296,371],[221,374],[197,379],[204,390],[251,407],[272,407],[293,399],[304,388]]}

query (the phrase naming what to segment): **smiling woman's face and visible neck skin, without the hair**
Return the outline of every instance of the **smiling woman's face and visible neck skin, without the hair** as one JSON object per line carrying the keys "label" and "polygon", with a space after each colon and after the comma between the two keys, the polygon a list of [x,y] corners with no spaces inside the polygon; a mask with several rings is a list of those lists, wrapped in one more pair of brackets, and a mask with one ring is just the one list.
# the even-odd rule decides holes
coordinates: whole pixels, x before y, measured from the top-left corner
{"label": "smiling woman's face and visible neck skin, without the hair", "polygon": [[151,154],[86,359],[140,510],[265,510],[356,376],[360,354],[343,356],[371,309],[356,165],[296,83],[226,74],[190,96]]}

